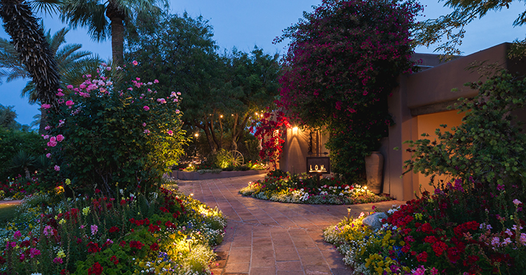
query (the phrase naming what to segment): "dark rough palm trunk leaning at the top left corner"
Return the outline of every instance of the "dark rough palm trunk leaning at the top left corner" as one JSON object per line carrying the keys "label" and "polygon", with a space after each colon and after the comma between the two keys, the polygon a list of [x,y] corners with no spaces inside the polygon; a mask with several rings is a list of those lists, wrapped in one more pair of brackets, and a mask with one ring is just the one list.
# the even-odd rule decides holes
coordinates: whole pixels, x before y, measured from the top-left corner
{"label": "dark rough palm trunk leaning at the top left corner", "polygon": [[0,0],[0,16],[20,61],[36,84],[39,101],[57,109],[56,91],[60,87],[57,63],[31,7],[25,1]]}

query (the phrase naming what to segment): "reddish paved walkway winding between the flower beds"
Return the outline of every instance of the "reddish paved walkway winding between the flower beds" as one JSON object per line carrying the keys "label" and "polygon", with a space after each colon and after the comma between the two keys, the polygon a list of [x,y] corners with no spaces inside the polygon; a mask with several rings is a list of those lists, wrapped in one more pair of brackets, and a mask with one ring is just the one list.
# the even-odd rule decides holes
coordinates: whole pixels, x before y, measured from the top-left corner
{"label": "reddish paved walkway winding between the flower beds", "polygon": [[347,216],[389,209],[392,201],[358,205],[283,204],[243,197],[238,190],[264,175],[179,181],[180,191],[223,211],[226,235],[216,252],[214,275],[350,274],[335,247],[323,241],[323,229]]}

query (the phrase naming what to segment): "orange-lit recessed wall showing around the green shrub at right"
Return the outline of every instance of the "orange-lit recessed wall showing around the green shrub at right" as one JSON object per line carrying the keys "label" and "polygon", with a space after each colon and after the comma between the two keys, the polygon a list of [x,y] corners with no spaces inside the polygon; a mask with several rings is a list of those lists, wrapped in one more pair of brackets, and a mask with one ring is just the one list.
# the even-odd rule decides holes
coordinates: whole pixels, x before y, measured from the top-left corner
{"label": "orange-lit recessed wall showing around the green shrub at right", "polygon": [[[452,132],[451,127],[457,127],[461,124],[464,113],[458,113],[458,111],[447,111],[442,113],[431,113],[429,115],[417,116],[418,125],[418,136],[419,139],[429,139],[430,141],[438,141],[438,136],[435,134],[436,129],[440,128],[441,132]],[[440,127],[445,124],[447,128]],[[422,134],[429,134],[427,137],[423,137]],[[422,192],[429,191],[433,193],[434,188],[429,185],[429,177],[424,174],[417,174],[418,181],[414,181],[413,189],[420,195],[420,186],[422,185]],[[436,176],[435,181],[446,180],[445,176]]]}

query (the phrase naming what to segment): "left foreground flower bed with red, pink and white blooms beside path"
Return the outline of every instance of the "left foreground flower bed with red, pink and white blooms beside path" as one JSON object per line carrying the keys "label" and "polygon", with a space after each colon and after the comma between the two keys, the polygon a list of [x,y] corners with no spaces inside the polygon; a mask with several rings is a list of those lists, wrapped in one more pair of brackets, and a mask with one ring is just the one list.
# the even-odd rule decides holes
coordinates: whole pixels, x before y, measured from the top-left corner
{"label": "left foreground flower bed with red, pink and white blooms beside path", "polygon": [[41,193],[18,211],[0,230],[0,274],[210,274],[226,225],[167,189],[120,200]]}

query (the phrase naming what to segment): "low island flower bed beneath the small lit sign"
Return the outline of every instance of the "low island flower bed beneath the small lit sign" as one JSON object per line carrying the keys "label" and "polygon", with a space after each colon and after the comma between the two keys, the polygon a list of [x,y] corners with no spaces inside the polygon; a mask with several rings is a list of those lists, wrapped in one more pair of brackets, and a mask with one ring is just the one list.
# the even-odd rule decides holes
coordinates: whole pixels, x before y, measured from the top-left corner
{"label": "low island flower bed beneath the small lit sign", "polygon": [[269,172],[263,181],[248,183],[239,193],[257,199],[274,202],[299,204],[366,204],[384,202],[389,197],[375,195],[360,185],[347,185],[335,178],[322,178],[320,185],[316,178]]}

